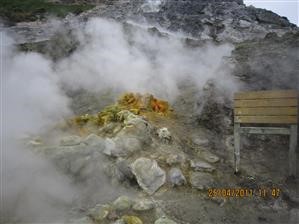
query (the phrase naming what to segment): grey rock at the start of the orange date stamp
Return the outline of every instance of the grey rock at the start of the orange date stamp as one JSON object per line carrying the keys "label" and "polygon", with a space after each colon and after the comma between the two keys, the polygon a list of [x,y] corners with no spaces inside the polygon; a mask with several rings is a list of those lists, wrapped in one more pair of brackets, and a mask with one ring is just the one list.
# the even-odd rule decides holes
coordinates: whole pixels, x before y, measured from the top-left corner
{"label": "grey rock at the start of the orange date stamp", "polygon": [[214,178],[209,173],[191,172],[190,184],[193,188],[204,190],[211,187],[214,183]]}

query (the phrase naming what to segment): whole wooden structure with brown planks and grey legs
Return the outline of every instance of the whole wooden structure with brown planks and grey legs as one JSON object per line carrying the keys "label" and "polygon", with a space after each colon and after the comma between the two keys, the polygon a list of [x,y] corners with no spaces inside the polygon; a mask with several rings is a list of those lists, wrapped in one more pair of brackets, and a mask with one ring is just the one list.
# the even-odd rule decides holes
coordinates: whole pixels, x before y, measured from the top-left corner
{"label": "whole wooden structure with brown planks and grey legs", "polygon": [[297,91],[236,93],[234,95],[235,172],[239,172],[241,134],[279,134],[290,136],[289,175],[295,177],[297,124]]}

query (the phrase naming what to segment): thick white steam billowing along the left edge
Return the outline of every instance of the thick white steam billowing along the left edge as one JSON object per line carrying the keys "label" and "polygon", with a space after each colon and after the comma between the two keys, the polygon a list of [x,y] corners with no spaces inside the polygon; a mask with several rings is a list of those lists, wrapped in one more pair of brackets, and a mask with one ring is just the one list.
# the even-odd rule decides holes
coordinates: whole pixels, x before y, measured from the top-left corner
{"label": "thick white steam billowing along the left edge", "polygon": [[[68,100],[41,55],[16,53],[1,33],[1,214],[3,221],[62,221],[75,194],[69,180],[19,142],[69,113]],[[13,217],[13,218],[12,218]],[[1,220],[2,221],[2,220]]]}

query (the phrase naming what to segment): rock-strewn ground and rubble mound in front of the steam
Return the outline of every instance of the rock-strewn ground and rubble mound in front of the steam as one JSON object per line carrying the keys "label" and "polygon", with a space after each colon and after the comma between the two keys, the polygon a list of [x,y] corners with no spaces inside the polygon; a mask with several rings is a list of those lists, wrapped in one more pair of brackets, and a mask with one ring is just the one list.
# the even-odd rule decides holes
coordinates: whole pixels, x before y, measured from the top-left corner
{"label": "rock-strewn ground and rubble mound in front of the steam", "polygon": [[[190,125],[179,113],[151,110],[136,114],[134,108],[126,109],[102,113],[106,123],[100,129],[92,128],[92,118],[85,116],[79,117],[80,122],[89,119],[83,126],[55,127],[52,135],[57,128],[63,130],[59,137],[49,138],[51,133],[45,133],[25,140],[31,150],[51,158],[84,189],[68,222],[298,221],[298,184],[286,179],[287,139],[244,139],[241,174],[234,175],[230,132],[219,139],[204,127]],[[222,196],[210,189],[255,192]],[[267,195],[259,195],[259,189],[267,189]],[[274,189],[279,192],[272,195]]]}

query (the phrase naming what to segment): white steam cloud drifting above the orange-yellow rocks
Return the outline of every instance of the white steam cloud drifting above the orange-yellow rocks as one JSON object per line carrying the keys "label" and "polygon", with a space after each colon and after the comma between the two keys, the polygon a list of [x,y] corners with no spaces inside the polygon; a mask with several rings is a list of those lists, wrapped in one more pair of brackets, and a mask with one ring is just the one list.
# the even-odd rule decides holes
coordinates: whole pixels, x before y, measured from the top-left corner
{"label": "white steam cloud drifting above the orange-yellow rocks", "polygon": [[161,38],[146,29],[126,30],[106,19],[92,19],[83,30],[82,47],[57,66],[64,85],[89,91],[106,87],[150,92],[168,100],[178,94],[178,84],[192,79],[199,89],[209,79],[235,89],[223,57],[230,45],[188,48],[176,36]]}

